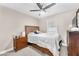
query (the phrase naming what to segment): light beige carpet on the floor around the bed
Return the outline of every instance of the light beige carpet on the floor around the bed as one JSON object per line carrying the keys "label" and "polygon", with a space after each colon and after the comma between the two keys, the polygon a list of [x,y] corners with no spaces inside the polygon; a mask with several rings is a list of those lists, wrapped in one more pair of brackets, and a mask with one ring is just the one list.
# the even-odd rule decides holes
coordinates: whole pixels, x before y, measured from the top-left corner
{"label": "light beige carpet on the floor around the bed", "polygon": [[[59,55],[60,56],[67,56],[67,47],[62,46]],[[18,52],[11,51],[11,52],[5,53],[1,56],[48,56],[48,55],[40,52],[39,50],[37,50],[35,48],[32,48],[31,46],[29,46],[29,47],[26,47],[24,49],[21,49]]]}

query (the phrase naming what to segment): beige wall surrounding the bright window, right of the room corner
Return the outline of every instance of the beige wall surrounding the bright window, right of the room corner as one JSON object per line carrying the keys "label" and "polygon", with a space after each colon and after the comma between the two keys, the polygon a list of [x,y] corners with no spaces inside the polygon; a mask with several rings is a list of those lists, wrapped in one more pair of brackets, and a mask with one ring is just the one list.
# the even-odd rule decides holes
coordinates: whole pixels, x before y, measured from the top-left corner
{"label": "beige wall surrounding the bright window, right of the room corner", "polygon": [[48,24],[57,26],[59,34],[61,35],[62,39],[64,40],[64,44],[66,45],[67,29],[69,25],[72,24],[72,19],[74,18],[74,16],[75,16],[75,10],[71,10],[43,18],[40,20],[41,31],[46,32]]}

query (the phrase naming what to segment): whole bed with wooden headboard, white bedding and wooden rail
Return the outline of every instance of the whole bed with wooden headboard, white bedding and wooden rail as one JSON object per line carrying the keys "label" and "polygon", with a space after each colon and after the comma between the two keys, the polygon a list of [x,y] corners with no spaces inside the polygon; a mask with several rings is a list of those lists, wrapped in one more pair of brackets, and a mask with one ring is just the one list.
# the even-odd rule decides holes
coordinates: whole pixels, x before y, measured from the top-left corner
{"label": "whole bed with wooden headboard, white bedding and wooden rail", "polygon": [[[60,48],[59,46],[59,34],[57,32],[53,33],[35,33],[39,30],[38,26],[25,26],[25,34],[28,37],[28,42],[33,47],[41,50],[49,55],[58,56]],[[53,30],[53,29],[52,29]]]}

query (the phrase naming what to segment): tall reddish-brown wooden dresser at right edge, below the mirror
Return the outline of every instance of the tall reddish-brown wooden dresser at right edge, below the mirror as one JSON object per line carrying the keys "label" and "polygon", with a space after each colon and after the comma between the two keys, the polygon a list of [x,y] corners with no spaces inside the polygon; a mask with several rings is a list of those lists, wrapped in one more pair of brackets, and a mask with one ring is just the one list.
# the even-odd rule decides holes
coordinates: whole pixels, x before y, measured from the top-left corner
{"label": "tall reddish-brown wooden dresser at right edge, below the mirror", "polygon": [[68,31],[68,55],[79,56],[79,31]]}

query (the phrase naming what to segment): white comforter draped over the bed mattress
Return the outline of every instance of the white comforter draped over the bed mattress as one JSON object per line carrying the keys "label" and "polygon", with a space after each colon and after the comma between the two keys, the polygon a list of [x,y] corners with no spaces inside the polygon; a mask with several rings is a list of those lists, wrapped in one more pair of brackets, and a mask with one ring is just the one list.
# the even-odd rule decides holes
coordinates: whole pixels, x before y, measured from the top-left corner
{"label": "white comforter draped over the bed mattress", "polygon": [[40,33],[34,34],[30,33],[28,35],[28,41],[31,43],[35,43],[41,47],[48,48],[55,56],[59,55],[58,49],[59,47],[59,35],[56,33]]}

